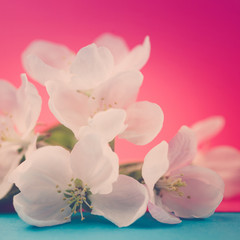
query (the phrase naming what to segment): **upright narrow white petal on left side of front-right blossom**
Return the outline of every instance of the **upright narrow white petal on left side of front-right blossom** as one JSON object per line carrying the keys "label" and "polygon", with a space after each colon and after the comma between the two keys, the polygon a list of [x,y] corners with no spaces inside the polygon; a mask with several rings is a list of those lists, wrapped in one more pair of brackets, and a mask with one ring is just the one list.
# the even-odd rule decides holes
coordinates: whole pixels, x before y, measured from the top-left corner
{"label": "upright narrow white petal on left side of front-right blossom", "polygon": [[162,141],[152,148],[144,159],[142,176],[149,191],[152,192],[154,185],[167,172],[168,167],[168,144]]}

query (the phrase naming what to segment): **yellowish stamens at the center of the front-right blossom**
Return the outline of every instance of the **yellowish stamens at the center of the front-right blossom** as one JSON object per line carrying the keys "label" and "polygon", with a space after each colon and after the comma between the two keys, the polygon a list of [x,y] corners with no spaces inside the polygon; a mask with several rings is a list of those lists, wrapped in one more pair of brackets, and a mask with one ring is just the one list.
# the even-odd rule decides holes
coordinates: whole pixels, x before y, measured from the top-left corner
{"label": "yellowish stamens at the center of the front-right blossom", "polygon": [[163,176],[161,177],[154,186],[154,189],[160,197],[162,197],[162,190],[168,192],[175,192],[177,195],[182,197],[184,193],[181,191],[181,187],[186,187],[186,182],[182,180],[183,175],[180,176]]}

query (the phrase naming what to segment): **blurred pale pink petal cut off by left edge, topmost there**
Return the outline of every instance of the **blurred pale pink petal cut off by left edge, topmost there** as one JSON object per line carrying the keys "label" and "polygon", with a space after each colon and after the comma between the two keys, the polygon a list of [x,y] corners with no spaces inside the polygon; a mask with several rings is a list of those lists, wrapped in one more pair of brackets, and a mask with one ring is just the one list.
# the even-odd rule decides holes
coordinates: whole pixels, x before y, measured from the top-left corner
{"label": "blurred pale pink petal cut off by left edge, topmost there", "polygon": [[0,114],[11,114],[17,106],[17,89],[5,80],[0,80]]}

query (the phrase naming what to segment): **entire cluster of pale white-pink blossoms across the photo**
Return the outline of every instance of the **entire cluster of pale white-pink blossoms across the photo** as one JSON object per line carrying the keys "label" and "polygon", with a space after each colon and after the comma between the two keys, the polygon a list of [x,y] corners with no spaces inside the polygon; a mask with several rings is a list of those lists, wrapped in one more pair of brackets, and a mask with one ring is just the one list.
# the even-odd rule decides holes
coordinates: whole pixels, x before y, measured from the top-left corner
{"label": "entire cluster of pale white-pink blossoms across the photo", "polygon": [[27,47],[24,68],[46,87],[51,112],[73,132],[76,143],[70,151],[39,144],[42,138],[34,128],[41,98],[26,75],[19,89],[0,81],[0,199],[15,184],[19,193],[13,204],[25,222],[52,226],[71,221],[77,213],[83,220],[90,212],[123,227],[147,208],[153,218],[170,224],[214,213],[224,183],[200,159],[225,153],[239,164],[239,152],[230,147],[204,153],[198,147],[221,129],[220,117],[183,126],[169,143],[151,149],[139,181],[119,174],[114,139],[145,145],[163,126],[160,106],[136,101],[143,81],[140,70],[149,55],[149,37],[129,50],[122,38],[111,34],[77,53],[40,40]]}

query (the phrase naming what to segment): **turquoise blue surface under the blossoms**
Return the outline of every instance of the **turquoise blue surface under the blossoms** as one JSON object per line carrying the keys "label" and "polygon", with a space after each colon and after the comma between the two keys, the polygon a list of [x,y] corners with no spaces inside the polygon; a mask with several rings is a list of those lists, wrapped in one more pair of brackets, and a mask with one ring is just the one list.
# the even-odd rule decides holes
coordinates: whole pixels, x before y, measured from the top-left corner
{"label": "turquoise blue surface under the blossoms", "polygon": [[81,222],[75,216],[71,223],[37,228],[24,223],[16,214],[0,214],[1,240],[239,240],[240,213],[215,213],[208,219],[184,220],[179,225],[161,224],[146,213],[127,228],[118,228],[102,217],[85,214]]}

